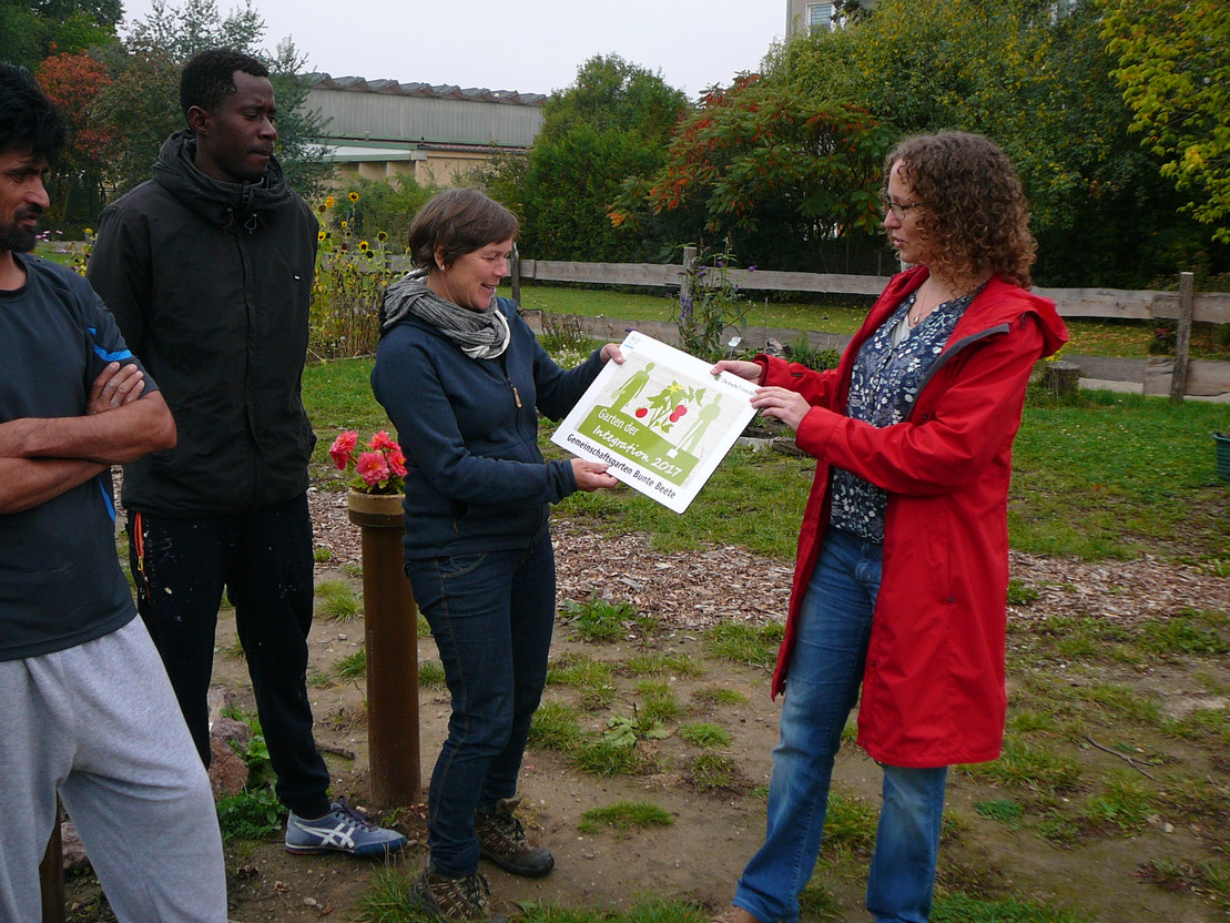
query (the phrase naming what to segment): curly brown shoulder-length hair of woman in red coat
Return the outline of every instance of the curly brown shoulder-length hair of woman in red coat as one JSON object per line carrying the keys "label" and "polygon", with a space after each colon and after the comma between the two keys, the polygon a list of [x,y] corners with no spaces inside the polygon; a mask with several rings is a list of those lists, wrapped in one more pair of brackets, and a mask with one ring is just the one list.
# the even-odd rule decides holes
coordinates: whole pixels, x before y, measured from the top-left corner
{"label": "curly brown shoulder-length hair of woman in red coat", "polygon": [[922,203],[920,226],[931,244],[932,272],[958,281],[1000,273],[1021,288],[1031,284],[1037,241],[1030,206],[1012,164],[979,134],[940,132],[907,138],[884,160]]}

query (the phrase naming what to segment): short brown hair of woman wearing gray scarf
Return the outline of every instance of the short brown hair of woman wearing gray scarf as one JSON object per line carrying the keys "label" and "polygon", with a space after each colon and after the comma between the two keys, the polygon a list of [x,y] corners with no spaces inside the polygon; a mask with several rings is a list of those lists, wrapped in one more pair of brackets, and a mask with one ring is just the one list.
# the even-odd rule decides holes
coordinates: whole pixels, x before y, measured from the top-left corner
{"label": "short brown hair of woman wearing gray scarf", "polygon": [[517,240],[517,215],[477,190],[445,190],[418,209],[410,225],[410,258],[421,270],[444,266],[488,244]]}

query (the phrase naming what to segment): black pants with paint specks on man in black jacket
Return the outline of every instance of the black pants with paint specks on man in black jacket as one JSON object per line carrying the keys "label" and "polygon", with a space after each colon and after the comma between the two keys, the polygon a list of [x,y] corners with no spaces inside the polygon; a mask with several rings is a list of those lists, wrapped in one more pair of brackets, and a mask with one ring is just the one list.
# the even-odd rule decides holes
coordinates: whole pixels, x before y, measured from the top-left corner
{"label": "black pants with paint specks on man in black jacket", "polygon": [[205,698],[225,587],[278,774],[278,797],[301,817],[326,813],[328,768],[312,738],[306,688],[312,615],[306,495],[234,516],[176,519],[133,513],[128,553],[138,609],[204,764],[209,765]]}

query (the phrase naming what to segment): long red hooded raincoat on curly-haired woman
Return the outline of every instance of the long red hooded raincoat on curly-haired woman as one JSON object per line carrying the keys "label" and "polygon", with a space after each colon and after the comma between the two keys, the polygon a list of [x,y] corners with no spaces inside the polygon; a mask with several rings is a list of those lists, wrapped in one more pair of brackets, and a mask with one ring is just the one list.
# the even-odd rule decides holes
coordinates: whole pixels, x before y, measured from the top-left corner
{"label": "long red hooded raincoat on curly-haired woman", "polygon": [[907,420],[877,430],[846,417],[859,347],[926,277],[918,267],[888,283],[835,370],[756,359],[761,384],[798,391],[813,405],[796,439],[818,460],[772,694],[788,682],[836,465],[889,492],[859,745],[881,763],[914,768],[999,757],[1012,438],[1033,364],[1068,340],[1050,300],[996,276],[957,322]]}

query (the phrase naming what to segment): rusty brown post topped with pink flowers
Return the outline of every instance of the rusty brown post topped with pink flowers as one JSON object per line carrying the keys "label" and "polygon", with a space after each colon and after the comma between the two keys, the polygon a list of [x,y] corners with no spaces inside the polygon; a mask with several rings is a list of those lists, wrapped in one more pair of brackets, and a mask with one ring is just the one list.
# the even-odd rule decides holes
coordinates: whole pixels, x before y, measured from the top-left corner
{"label": "rusty brown post topped with pink flowers", "polygon": [[401,569],[400,495],[352,491],[347,514],[362,534],[368,658],[368,762],[381,809],[419,801],[418,607]]}

